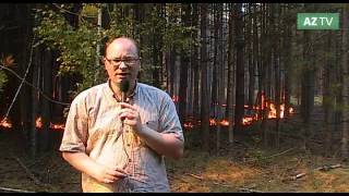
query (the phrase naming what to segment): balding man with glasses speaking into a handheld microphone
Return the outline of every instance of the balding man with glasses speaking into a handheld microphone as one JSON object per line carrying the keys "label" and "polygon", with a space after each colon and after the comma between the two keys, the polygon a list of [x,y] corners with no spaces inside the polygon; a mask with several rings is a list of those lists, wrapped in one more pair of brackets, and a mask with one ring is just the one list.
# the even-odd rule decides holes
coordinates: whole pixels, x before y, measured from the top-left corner
{"label": "balding man with glasses speaking into a handheld microphone", "polygon": [[[141,62],[133,39],[108,42],[104,63],[108,82],[72,101],[62,157],[82,172],[83,192],[169,192],[164,156],[179,159],[184,146],[174,103],[136,81]],[[130,87],[122,94],[125,81]]]}

